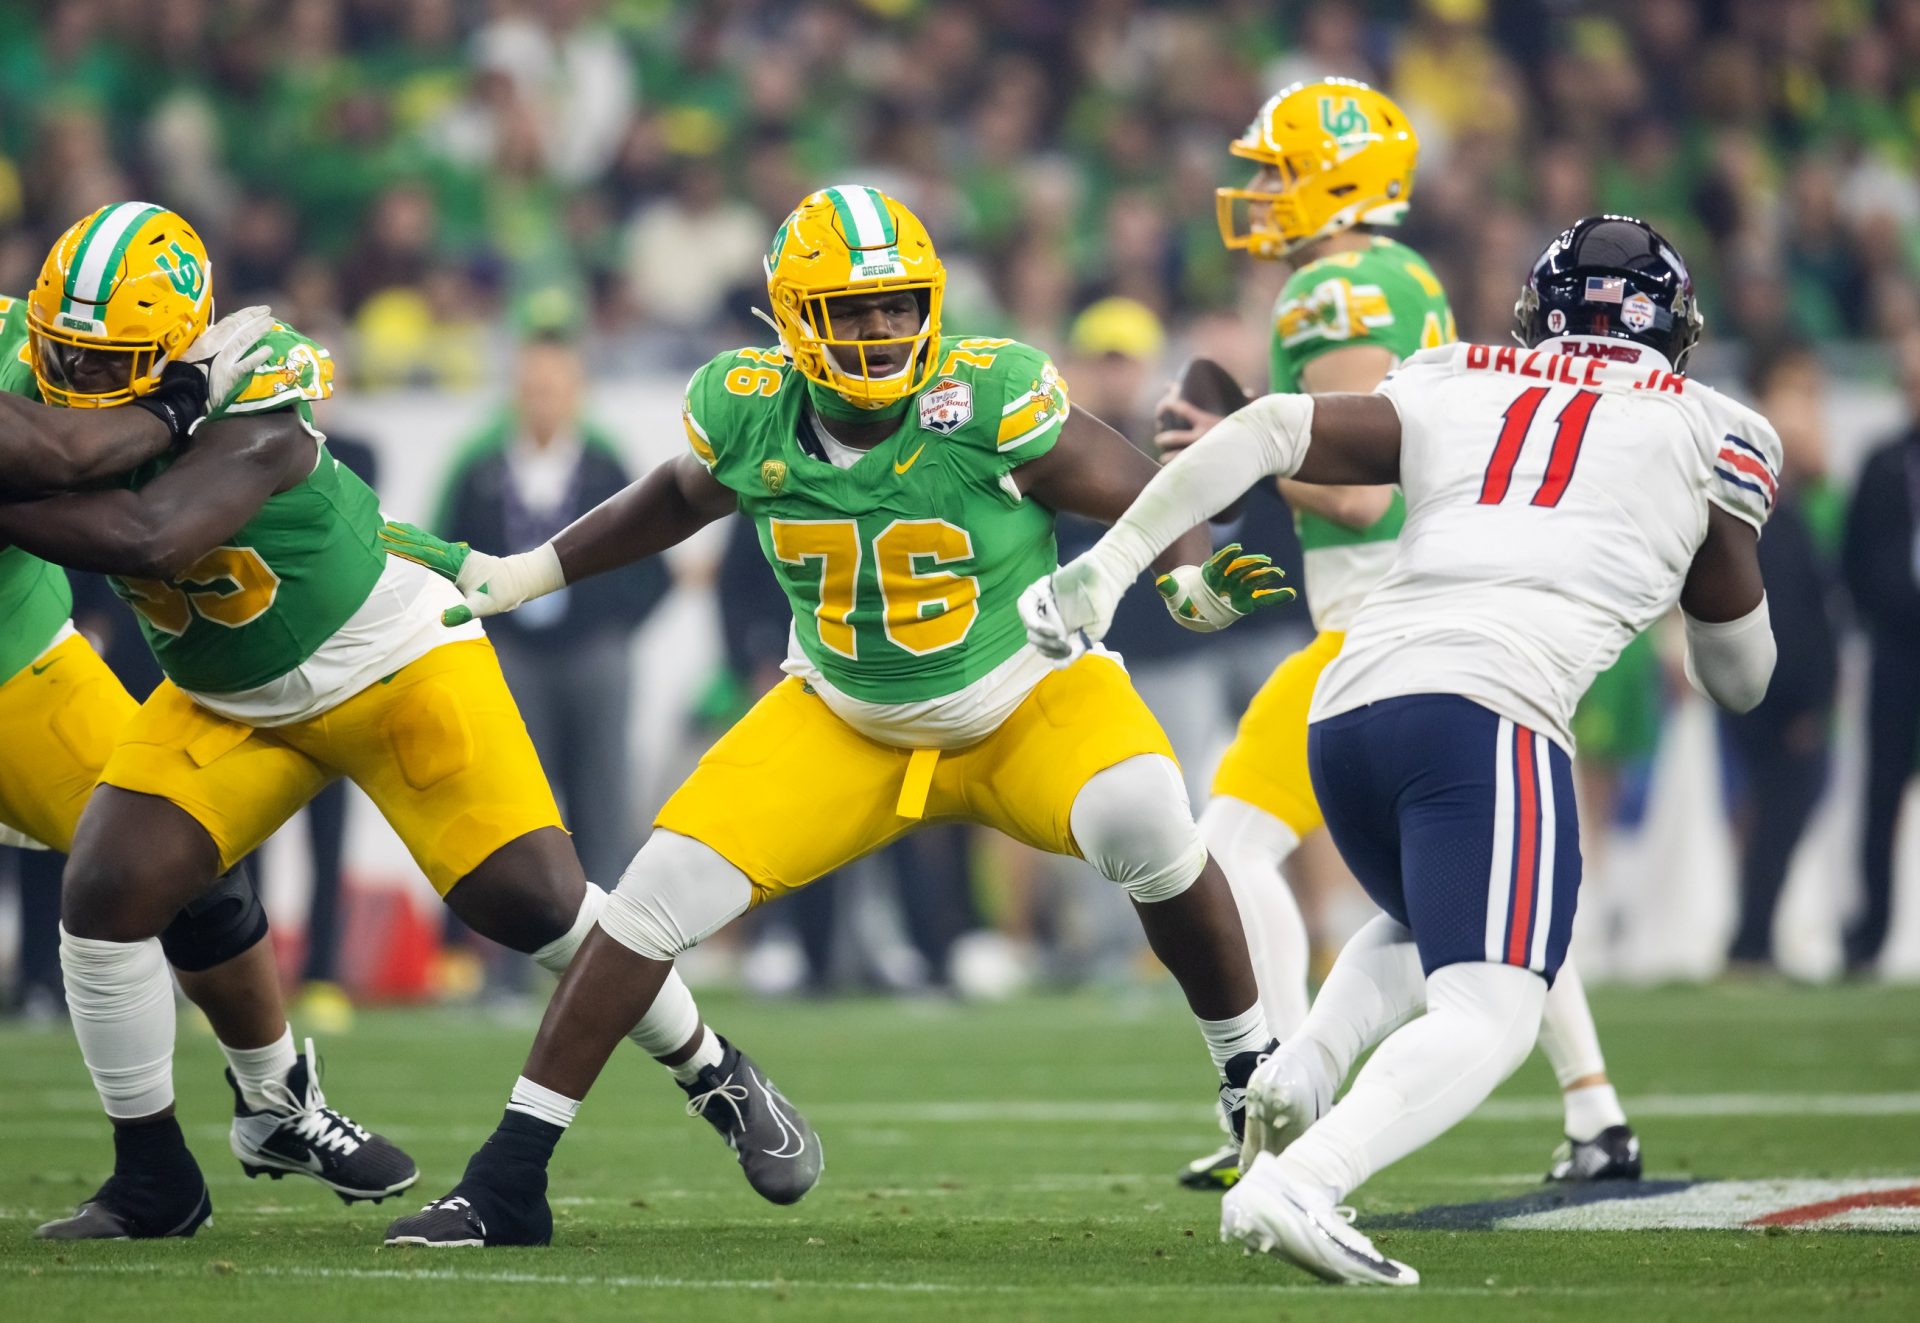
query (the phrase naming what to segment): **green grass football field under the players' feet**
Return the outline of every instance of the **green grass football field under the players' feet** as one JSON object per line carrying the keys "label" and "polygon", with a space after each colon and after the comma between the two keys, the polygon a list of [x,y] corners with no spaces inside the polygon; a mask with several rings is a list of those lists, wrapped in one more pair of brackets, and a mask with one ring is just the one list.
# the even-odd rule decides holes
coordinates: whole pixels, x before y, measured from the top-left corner
{"label": "green grass football field under the players' feet", "polygon": [[[1596,1008],[1628,1108],[1642,1100],[1649,1175],[1920,1183],[1920,989],[1601,991]],[[1217,1242],[1217,1198],[1171,1181],[1213,1131],[1210,1070],[1169,987],[707,1010],[820,1127],[820,1189],[758,1202],[626,1048],[561,1146],[555,1246],[488,1252],[384,1250],[380,1233],[457,1179],[526,1025],[372,1012],[323,1045],[330,1100],[422,1167],[401,1200],[351,1210],[305,1181],[242,1177],[219,1052],[182,1029],[180,1114],[213,1225],[79,1246],[31,1233],[102,1179],[106,1125],[65,1029],[0,1027],[0,1323],[1920,1317],[1920,1237],[1901,1233],[1375,1231],[1421,1269],[1409,1292],[1244,1258]],[[1354,1202],[1365,1225],[1524,1194],[1555,1137],[1536,1054],[1486,1114]]]}

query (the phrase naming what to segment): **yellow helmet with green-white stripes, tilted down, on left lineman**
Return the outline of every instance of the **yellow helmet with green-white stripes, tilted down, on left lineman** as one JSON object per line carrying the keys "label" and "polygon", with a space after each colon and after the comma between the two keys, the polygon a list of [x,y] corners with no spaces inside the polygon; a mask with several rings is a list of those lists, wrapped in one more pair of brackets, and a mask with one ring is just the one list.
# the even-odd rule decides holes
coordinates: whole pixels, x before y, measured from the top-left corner
{"label": "yellow helmet with green-white stripes, tilted down, on left lineman", "polygon": [[27,296],[40,397],[106,409],[144,396],[209,321],[213,263],[194,227],[148,202],[100,207],[60,236]]}

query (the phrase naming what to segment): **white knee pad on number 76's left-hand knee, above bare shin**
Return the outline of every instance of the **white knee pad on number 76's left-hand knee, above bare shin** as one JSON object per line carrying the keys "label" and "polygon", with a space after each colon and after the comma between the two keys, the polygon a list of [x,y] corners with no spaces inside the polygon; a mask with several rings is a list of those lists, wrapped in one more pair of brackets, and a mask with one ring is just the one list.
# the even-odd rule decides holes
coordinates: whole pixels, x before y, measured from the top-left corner
{"label": "white knee pad on number 76's left-hand knee, above bare shin", "polygon": [[655,828],[607,897],[599,924],[628,950],[672,960],[745,914],[751,902],[747,874],[718,851]]}

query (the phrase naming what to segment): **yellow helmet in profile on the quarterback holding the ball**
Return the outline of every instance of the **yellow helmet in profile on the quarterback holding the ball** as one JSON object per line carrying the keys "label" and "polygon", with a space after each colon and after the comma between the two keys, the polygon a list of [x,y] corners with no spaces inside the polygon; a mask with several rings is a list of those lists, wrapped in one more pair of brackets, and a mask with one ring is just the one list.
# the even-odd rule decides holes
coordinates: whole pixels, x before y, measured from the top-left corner
{"label": "yellow helmet in profile on the quarterback holding the ball", "polygon": [[1384,92],[1321,79],[1277,92],[1227,150],[1277,171],[1279,186],[1217,190],[1221,240],[1286,257],[1350,225],[1400,225],[1421,142]]}

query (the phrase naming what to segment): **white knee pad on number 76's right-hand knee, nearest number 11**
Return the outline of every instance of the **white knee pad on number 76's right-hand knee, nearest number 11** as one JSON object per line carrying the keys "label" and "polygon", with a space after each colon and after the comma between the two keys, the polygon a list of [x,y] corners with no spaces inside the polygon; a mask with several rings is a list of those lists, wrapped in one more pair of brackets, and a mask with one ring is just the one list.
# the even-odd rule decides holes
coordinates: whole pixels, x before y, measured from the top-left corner
{"label": "white knee pad on number 76's right-hand knee, nearest number 11", "polygon": [[1206,868],[1206,845],[1187,805],[1181,770],[1142,753],[1096,772],[1068,816],[1073,841],[1102,878],[1140,904],[1171,901]]}

